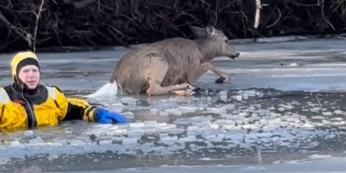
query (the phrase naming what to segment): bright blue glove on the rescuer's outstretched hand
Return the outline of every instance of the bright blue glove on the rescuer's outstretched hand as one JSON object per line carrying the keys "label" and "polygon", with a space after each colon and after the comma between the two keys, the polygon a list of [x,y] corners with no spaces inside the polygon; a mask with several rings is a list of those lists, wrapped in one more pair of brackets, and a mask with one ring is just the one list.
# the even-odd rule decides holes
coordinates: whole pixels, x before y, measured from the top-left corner
{"label": "bright blue glove on the rescuer's outstretched hand", "polygon": [[124,115],[116,112],[110,112],[106,109],[96,108],[94,112],[94,119],[96,122],[102,123],[124,123],[127,118]]}

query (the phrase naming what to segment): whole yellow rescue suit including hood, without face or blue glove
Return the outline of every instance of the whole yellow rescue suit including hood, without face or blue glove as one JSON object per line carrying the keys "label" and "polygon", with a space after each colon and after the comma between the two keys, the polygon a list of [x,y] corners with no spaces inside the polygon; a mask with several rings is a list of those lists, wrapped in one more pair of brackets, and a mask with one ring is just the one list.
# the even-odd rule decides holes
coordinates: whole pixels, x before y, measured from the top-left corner
{"label": "whole yellow rescue suit including hood, without face or blue glove", "polygon": [[[83,99],[67,98],[57,87],[38,85],[34,92],[25,90],[18,78],[24,63],[39,67],[32,52],[18,53],[11,62],[14,83],[0,88],[0,128],[33,128],[56,125],[59,120],[94,121],[94,110]],[[32,92],[32,93],[31,93]]]}

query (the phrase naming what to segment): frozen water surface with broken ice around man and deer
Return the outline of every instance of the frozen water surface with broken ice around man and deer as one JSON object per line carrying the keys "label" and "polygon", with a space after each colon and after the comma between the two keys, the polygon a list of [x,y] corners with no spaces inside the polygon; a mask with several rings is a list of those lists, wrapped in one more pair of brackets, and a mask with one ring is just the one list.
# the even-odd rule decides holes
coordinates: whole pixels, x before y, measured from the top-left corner
{"label": "frozen water surface with broken ice around man and deer", "polygon": [[[239,58],[213,61],[232,73],[228,83],[207,73],[200,94],[89,99],[129,124],[3,131],[0,172],[346,172],[345,43],[235,45]],[[48,84],[85,95],[108,82],[127,51],[38,56]],[[11,57],[0,55],[0,86],[11,83]]]}

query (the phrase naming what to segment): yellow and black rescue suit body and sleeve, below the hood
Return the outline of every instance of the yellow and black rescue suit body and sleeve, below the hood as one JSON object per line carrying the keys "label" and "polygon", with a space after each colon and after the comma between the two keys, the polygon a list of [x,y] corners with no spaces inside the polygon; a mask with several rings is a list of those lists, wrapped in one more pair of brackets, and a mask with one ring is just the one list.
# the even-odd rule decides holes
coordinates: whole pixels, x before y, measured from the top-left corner
{"label": "yellow and black rescue suit body and sleeve, below the hood", "polygon": [[[66,98],[55,87],[39,85],[39,88],[40,92],[31,99],[30,108],[25,102],[11,100],[6,91],[12,89],[11,85],[0,88],[0,128],[42,127],[56,125],[58,120],[94,120],[95,107],[89,106],[85,100]],[[12,99],[16,99],[15,95],[12,95]]]}

